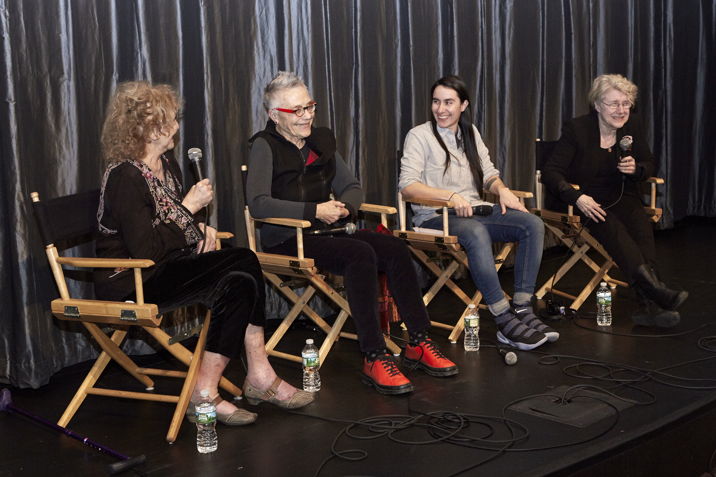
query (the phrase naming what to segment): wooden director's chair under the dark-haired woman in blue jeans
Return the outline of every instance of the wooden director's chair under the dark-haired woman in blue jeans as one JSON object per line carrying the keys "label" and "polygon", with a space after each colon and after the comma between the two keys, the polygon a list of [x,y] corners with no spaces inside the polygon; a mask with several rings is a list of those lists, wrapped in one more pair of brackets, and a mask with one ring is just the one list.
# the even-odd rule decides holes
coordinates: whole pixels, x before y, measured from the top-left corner
{"label": "wooden director's chair under the dark-haired woman in blue jeans", "polygon": [[[531,192],[522,192],[519,190],[513,190],[512,192],[514,195],[516,195],[516,197],[519,197],[520,203],[522,205],[525,205],[526,198],[532,197]],[[421,227],[413,227],[414,231],[412,232],[406,230],[406,202],[419,205],[442,207],[442,234],[433,229],[425,229]],[[430,322],[433,326],[437,326],[437,328],[445,328],[446,330],[451,330],[449,337],[450,343],[455,344],[458,342],[458,337],[460,337],[460,333],[463,333],[463,329],[465,328],[464,318],[465,315],[467,315],[470,311],[468,305],[473,304],[478,308],[488,310],[488,305],[480,303],[480,300],[483,299],[483,294],[482,292],[480,292],[480,290],[475,292],[475,295],[470,298],[468,297],[468,295],[465,294],[465,292],[463,292],[463,290],[460,290],[460,287],[458,287],[458,285],[455,285],[455,282],[453,282],[453,280],[451,280],[450,278],[453,276],[455,271],[458,270],[458,267],[460,267],[460,265],[465,265],[468,270],[470,269],[470,267],[468,266],[468,256],[465,253],[465,249],[462,245],[458,243],[458,237],[456,235],[450,235],[450,231],[448,230],[448,207],[455,207],[455,202],[450,202],[449,200],[420,199],[417,197],[413,197],[412,199],[405,199],[405,197],[403,197],[402,194],[398,192],[398,207],[400,217],[400,230],[395,230],[393,232],[393,235],[401,238],[410,248],[410,251],[418,258],[418,260],[420,260],[420,262],[422,262],[422,264],[425,265],[435,275],[435,277],[437,277],[437,280],[435,280],[435,283],[432,285],[432,287],[430,287],[430,290],[427,290],[425,296],[422,297],[422,300],[425,302],[425,306],[430,303],[430,301],[437,294],[437,291],[440,290],[443,285],[447,286],[453,293],[455,293],[455,295],[458,296],[458,298],[460,298],[460,300],[463,300],[463,303],[465,303],[465,311],[463,311],[463,315],[460,316],[458,323],[456,323],[454,326],[446,325],[445,323],[437,323],[435,321]],[[514,245],[514,242],[505,242],[500,248],[500,251],[495,256],[496,270],[500,270],[500,267],[502,267],[505,258],[509,255]],[[425,253],[426,251],[438,252],[438,255],[437,257],[428,257]],[[448,264],[446,264],[445,270],[442,270],[440,267],[435,265],[435,261],[443,260],[443,258],[445,257],[448,257]],[[507,297],[508,300],[511,300],[511,297],[506,293],[505,297]]]}

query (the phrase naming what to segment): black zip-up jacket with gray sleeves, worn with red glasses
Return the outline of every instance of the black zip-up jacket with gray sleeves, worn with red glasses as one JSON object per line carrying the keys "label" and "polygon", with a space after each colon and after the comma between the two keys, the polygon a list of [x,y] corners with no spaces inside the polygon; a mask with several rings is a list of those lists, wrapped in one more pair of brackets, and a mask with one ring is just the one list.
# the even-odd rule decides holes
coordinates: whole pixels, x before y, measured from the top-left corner
{"label": "black zip-up jacket with gray sleeves, worn with red glasses", "polygon": [[[295,144],[276,131],[273,121],[249,139],[251,162],[248,167],[246,200],[253,217],[286,217],[309,220],[311,228],[330,227],[316,219],[316,205],[331,200],[344,202],[350,215],[339,220],[352,222],[363,200],[360,183],[350,172],[336,149],[336,138],[327,127],[311,127],[306,144],[319,157],[306,166],[306,159]],[[304,231],[307,231],[304,229]],[[273,247],[296,235],[294,227],[264,224],[261,242]]]}

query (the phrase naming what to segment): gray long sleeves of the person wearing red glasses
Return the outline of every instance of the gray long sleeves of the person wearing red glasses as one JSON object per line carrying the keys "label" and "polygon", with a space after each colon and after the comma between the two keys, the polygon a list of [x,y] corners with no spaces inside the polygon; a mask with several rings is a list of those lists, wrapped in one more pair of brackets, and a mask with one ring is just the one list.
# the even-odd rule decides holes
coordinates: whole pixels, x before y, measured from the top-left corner
{"label": "gray long sleeves of the person wearing red glasses", "polygon": [[[337,200],[350,205],[357,212],[363,202],[363,190],[360,182],[352,174],[343,158],[338,152],[336,158],[336,175],[331,182],[334,196]],[[268,217],[286,217],[289,219],[305,220],[305,202],[294,202],[271,197],[271,177],[274,172],[274,157],[271,146],[266,139],[258,137],[251,147],[251,156],[248,166],[248,179],[246,181],[246,199],[248,211],[252,217],[265,219]],[[346,217],[341,222],[349,222],[354,217]],[[318,219],[311,217],[316,224]],[[263,224],[261,227],[261,243],[263,247],[273,247],[296,235],[294,227]]]}

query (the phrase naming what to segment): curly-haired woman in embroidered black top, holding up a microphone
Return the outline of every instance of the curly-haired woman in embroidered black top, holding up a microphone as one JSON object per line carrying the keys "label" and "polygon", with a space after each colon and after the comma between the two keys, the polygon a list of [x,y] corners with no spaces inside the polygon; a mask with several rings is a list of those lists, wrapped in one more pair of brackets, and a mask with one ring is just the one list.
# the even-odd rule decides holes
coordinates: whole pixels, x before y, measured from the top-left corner
{"label": "curly-haired woman in embroidered black top, holding up a microphone", "polygon": [[[216,230],[204,227],[200,214],[213,199],[209,180],[184,195],[179,164],[164,154],[174,147],[180,106],[175,90],[166,84],[117,86],[102,131],[109,164],[97,212],[97,257],[153,260],[153,267],[142,269],[142,282],[145,300],[155,303],[160,314],[197,302],[211,308],[187,418],[193,422],[194,403],[205,389],[216,403],[218,421],[238,426],[252,423],[256,414],[222,400],[218,383],[228,360],[241,357],[242,343],[248,358],[246,380],[253,388],[266,389],[271,398],[265,400],[298,408],[314,397],[277,378],[266,357],[265,296],[256,254],[239,247],[215,250]],[[134,301],[134,275],[124,268],[97,269],[95,292],[101,300]]]}

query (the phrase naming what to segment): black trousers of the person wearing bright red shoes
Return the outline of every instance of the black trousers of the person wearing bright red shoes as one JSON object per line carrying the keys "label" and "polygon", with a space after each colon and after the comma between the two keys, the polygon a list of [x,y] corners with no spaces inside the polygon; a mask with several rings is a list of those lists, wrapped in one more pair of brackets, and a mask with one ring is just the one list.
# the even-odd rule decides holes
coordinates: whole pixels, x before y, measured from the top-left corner
{"label": "black trousers of the person wearing bright red shoes", "polygon": [[[296,255],[296,237],[265,251]],[[362,351],[385,347],[378,311],[378,270],[387,275],[390,294],[408,332],[420,333],[430,328],[410,250],[399,238],[364,231],[304,237],[304,255],[314,259],[321,270],[343,275]]]}

